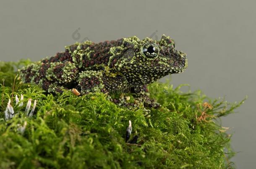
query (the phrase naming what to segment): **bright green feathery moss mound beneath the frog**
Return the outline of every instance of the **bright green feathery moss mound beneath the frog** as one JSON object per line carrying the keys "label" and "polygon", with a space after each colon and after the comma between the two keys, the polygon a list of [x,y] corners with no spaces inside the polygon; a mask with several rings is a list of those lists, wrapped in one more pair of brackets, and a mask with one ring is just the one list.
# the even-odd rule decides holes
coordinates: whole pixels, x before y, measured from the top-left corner
{"label": "bright green feathery moss mound beneath the frog", "polygon": [[[20,85],[20,63],[0,62],[0,168],[232,168],[230,135],[218,122],[238,104],[211,100],[201,91],[181,92],[162,83],[149,87],[162,104],[145,115],[128,109],[102,93],[75,96],[46,94],[39,86]],[[13,65],[16,68],[13,68]],[[8,99],[24,94],[37,99],[36,115],[28,118],[15,108],[5,121]],[[207,102],[207,103],[205,103]],[[12,103],[12,105],[14,105]],[[125,143],[128,121],[138,144]],[[21,134],[18,125],[27,123]]]}

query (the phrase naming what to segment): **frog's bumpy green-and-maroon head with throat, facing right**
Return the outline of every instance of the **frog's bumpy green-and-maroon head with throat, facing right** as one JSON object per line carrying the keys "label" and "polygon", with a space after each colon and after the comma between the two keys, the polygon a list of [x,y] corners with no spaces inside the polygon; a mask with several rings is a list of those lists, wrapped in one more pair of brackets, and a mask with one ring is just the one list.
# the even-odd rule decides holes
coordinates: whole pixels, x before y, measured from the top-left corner
{"label": "frog's bumpy green-and-maroon head with throat, facing right", "polygon": [[123,45],[112,47],[109,66],[122,73],[131,84],[148,84],[168,74],[183,72],[186,54],[175,50],[175,43],[162,35],[160,40],[136,36],[123,38]]}

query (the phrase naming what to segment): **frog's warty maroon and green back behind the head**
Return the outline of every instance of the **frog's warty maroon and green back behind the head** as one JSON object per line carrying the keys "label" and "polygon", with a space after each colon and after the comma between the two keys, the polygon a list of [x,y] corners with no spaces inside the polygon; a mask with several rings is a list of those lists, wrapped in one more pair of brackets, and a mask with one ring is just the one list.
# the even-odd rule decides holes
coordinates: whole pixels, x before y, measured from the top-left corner
{"label": "frog's warty maroon and green back behind the head", "polygon": [[121,46],[123,38],[118,40],[93,43],[75,43],[65,46],[65,52],[56,53],[55,56],[42,60],[42,63],[71,62],[81,70],[93,70],[97,67],[107,66],[111,53],[110,48]]}

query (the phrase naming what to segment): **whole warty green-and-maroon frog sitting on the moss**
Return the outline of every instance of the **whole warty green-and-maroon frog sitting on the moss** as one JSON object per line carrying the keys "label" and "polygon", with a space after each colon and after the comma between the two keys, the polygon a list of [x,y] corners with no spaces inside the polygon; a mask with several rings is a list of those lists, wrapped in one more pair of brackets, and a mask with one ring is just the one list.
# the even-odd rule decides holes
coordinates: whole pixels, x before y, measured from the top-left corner
{"label": "whole warty green-and-maroon frog sitting on the moss", "polygon": [[141,88],[138,96],[147,101],[146,84],[186,67],[186,54],[175,50],[169,36],[162,35],[160,40],[133,36],[65,46],[65,52],[26,66],[20,76],[24,83],[39,84],[54,93],[64,88],[78,88],[81,94]]}

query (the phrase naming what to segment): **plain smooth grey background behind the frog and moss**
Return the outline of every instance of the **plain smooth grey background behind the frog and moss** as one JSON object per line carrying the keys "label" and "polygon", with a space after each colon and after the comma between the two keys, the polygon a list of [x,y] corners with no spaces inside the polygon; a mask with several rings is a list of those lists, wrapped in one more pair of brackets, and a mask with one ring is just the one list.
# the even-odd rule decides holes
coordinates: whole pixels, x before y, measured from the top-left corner
{"label": "plain smooth grey background behind the frog and moss", "polygon": [[[170,35],[188,54],[188,69],[172,83],[191,84],[212,98],[247,101],[222,119],[231,127],[232,159],[254,168],[256,155],[256,1],[0,1],[0,60],[40,60],[83,39]],[[78,34],[72,37],[77,30]]]}

